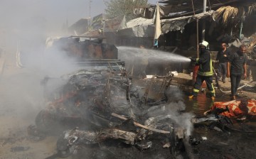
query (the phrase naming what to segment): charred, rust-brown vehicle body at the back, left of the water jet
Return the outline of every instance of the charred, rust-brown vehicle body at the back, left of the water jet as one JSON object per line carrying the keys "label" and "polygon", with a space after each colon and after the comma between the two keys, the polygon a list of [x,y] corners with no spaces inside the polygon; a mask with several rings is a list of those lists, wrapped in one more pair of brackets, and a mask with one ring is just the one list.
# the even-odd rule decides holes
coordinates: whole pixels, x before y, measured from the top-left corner
{"label": "charred, rust-brown vehicle body at the back, left of the water jet", "polygon": [[118,60],[117,48],[104,42],[104,38],[88,38],[83,36],[70,36],[62,38],[48,38],[46,40],[46,53],[60,53],[74,62],[87,62]]}

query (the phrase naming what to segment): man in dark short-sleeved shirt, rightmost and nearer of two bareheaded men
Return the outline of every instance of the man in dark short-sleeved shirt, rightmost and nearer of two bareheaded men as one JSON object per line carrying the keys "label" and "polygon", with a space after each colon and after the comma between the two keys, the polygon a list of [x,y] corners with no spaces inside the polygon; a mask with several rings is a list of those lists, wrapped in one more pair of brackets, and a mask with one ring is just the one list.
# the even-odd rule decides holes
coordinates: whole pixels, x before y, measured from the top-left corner
{"label": "man in dark short-sleeved shirt, rightmost and nearer of two bareheaded men", "polygon": [[246,79],[246,76],[247,76],[246,75],[247,56],[245,55],[245,52],[246,52],[246,45],[240,45],[238,52],[231,54],[229,57],[227,77],[230,77],[231,95],[233,100],[236,99],[235,95],[237,94],[241,77],[243,76]]}

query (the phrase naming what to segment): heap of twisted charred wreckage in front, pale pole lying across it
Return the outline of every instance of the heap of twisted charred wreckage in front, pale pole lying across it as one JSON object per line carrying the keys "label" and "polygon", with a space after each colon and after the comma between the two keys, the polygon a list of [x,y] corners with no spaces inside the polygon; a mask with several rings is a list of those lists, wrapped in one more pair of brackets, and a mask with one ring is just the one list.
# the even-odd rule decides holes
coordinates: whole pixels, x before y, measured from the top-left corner
{"label": "heap of twisted charred wreckage in front, pale pole lying across it", "polygon": [[[109,125],[108,128],[103,126],[95,128],[94,126],[94,128],[87,130],[73,128],[64,131],[58,138],[58,154],[61,157],[67,157],[82,146],[117,139],[137,147],[138,150],[146,150],[152,146],[161,145],[160,148],[169,149],[170,155],[175,155],[176,151],[183,150],[183,147],[188,149],[189,138],[186,128],[189,129],[190,126],[184,126],[184,124],[190,122],[191,116],[191,114],[181,112],[182,110],[178,108],[178,105],[182,105],[182,102],[166,101],[155,106],[145,104],[143,108],[132,106],[129,110],[133,114],[127,114],[122,110],[119,112],[122,115],[116,114],[117,111],[112,110],[110,116],[106,117],[108,117],[109,123],[115,124]],[[138,109],[139,111],[137,111]]]}

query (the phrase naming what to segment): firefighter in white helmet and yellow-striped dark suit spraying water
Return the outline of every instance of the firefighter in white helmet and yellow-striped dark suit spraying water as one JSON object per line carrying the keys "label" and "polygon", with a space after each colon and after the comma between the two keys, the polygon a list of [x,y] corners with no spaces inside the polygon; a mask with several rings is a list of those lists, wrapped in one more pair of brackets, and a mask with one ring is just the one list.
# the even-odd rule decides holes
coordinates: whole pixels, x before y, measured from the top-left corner
{"label": "firefighter in white helmet and yellow-striped dark suit spraying water", "polygon": [[203,40],[202,43],[199,43],[199,48],[199,58],[191,58],[192,62],[196,62],[196,65],[199,65],[199,69],[197,72],[196,82],[193,87],[193,93],[189,96],[189,98],[193,99],[193,97],[197,97],[201,84],[203,81],[206,81],[206,85],[210,91],[210,98],[214,100],[215,90],[213,87],[213,64],[209,51],[209,43]]}

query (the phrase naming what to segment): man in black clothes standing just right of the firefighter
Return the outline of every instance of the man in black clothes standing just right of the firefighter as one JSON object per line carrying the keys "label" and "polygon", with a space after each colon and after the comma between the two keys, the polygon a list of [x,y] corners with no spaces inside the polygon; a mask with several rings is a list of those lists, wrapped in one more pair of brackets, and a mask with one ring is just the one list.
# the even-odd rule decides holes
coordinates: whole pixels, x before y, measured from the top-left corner
{"label": "man in black clothes standing just right of the firefighter", "polygon": [[230,51],[227,49],[226,43],[221,43],[221,48],[217,54],[216,62],[218,63],[218,80],[222,77],[223,83],[225,83],[225,77],[227,75],[227,62],[230,55]]}

